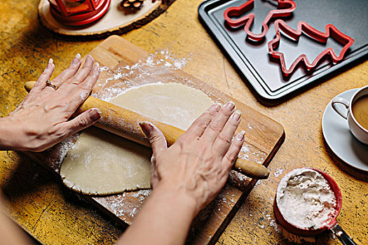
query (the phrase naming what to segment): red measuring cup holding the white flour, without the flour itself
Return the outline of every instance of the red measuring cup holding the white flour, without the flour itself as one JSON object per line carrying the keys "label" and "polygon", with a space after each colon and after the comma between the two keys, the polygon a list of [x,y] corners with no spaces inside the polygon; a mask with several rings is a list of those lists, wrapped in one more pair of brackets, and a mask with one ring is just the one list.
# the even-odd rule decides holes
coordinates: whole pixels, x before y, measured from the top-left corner
{"label": "red measuring cup holding the white flour, without the flour itself", "polygon": [[[313,169],[313,168],[306,167],[306,168],[303,168],[303,169]],[[291,232],[294,235],[299,235],[299,236],[302,236],[302,237],[313,237],[315,235],[318,235],[318,234],[324,232],[325,230],[329,230],[332,227],[334,227],[334,225],[336,225],[336,223],[337,223],[336,218],[339,215],[339,213],[341,211],[341,207],[342,207],[341,191],[340,191],[339,186],[337,186],[337,183],[334,181],[334,179],[332,179],[331,176],[329,176],[325,172],[320,171],[319,169],[313,169],[313,170],[320,173],[323,177],[325,177],[325,179],[329,183],[329,186],[331,187],[331,189],[334,192],[334,195],[336,197],[336,207],[335,207],[336,212],[334,214],[334,217],[332,217],[326,225],[324,225],[324,226],[322,226],[321,228],[318,228],[318,229],[302,229],[302,228],[299,228],[299,227],[293,225],[292,223],[289,223],[288,221],[286,221],[284,216],[282,216],[282,214],[280,212],[280,209],[278,208],[278,203],[277,203],[277,196],[278,196],[277,190],[276,190],[276,194],[275,194],[275,200],[273,201],[273,212],[275,213],[276,221],[283,228],[285,228],[285,230]]]}

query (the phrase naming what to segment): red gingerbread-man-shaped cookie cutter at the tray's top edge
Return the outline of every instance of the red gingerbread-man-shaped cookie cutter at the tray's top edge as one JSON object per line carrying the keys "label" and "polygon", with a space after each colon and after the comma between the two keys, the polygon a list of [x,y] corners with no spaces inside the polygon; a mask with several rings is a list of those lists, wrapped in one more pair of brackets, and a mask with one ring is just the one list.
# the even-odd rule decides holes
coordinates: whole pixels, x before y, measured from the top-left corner
{"label": "red gingerbread-man-shaped cookie cutter at the tray's top edge", "polygon": [[297,8],[297,4],[292,0],[277,0],[277,2],[278,9],[269,11],[266,18],[264,18],[264,21],[262,22],[261,34],[255,34],[250,31],[250,27],[252,27],[254,20],[254,13],[245,15],[238,20],[231,19],[231,17],[244,15],[249,10],[254,8],[254,0],[248,0],[238,7],[227,8],[224,12],[224,18],[231,27],[240,27],[241,25],[245,24],[244,30],[247,33],[247,38],[250,38],[252,41],[261,41],[262,38],[264,38],[264,36],[267,34],[268,22],[270,22],[271,18],[291,15],[295,8]]}

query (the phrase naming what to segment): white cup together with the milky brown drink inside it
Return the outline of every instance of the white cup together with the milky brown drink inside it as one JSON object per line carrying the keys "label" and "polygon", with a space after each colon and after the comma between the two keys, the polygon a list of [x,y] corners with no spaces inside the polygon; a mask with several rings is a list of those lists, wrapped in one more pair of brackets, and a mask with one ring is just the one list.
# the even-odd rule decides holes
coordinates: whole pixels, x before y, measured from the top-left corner
{"label": "white cup together with the milky brown drink inside it", "polygon": [[[345,108],[337,107],[336,104],[343,104]],[[355,138],[368,144],[368,85],[357,90],[350,102],[342,97],[334,98],[332,108],[348,120],[349,129]]]}

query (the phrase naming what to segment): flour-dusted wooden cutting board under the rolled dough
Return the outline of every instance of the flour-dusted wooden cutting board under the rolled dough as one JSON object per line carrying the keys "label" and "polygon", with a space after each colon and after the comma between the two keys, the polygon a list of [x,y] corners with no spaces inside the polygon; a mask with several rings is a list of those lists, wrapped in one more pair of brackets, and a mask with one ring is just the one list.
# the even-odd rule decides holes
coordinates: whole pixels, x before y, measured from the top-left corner
{"label": "flour-dusted wooden cutting board under the rolled dough", "polygon": [[[243,112],[238,129],[238,131],[246,131],[245,144],[240,152],[241,158],[267,166],[285,139],[285,132],[280,123],[177,69],[175,64],[150,55],[120,36],[110,36],[89,54],[102,67],[100,79],[93,90],[95,97],[110,99],[129,87],[148,83],[182,83],[205,92],[214,102],[224,104],[231,100]],[[42,153],[26,154],[58,174],[64,155],[76,139],[78,135]],[[256,181],[231,171],[229,181],[218,197],[193,221],[188,242],[214,244],[243,204]],[[83,196],[83,198],[104,211],[114,221],[130,225],[149,193],[150,190],[140,190],[120,195]]]}

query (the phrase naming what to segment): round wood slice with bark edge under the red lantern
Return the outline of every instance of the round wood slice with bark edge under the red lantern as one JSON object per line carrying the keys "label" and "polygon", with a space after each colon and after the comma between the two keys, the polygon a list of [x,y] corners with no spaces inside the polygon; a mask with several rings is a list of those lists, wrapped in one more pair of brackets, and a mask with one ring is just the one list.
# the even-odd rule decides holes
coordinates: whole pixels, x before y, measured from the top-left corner
{"label": "round wood slice with bark edge under the red lantern", "polygon": [[137,11],[125,10],[120,6],[121,0],[111,0],[109,10],[97,22],[83,27],[69,27],[57,22],[50,13],[48,0],[39,2],[39,18],[44,27],[63,36],[75,38],[103,38],[111,34],[123,34],[132,29],[146,25],[161,15],[175,0],[144,1],[142,8]]}

